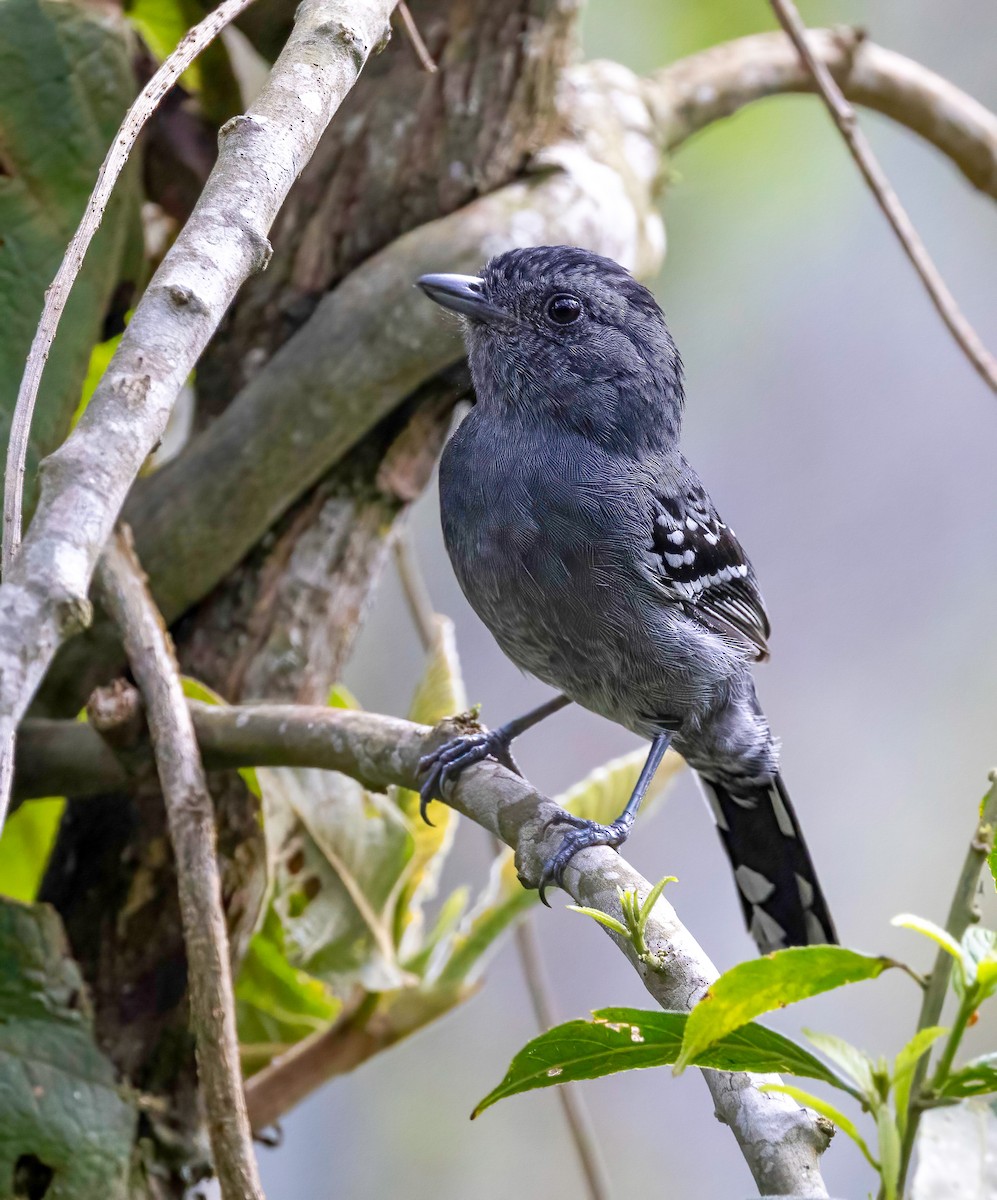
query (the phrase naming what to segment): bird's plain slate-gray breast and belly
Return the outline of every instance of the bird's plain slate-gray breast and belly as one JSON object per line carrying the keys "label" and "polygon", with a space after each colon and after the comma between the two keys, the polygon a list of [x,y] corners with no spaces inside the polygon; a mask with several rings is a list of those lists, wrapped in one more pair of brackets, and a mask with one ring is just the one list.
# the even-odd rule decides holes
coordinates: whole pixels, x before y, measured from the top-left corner
{"label": "bird's plain slate-gray breast and belly", "polygon": [[548,442],[506,422],[493,431],[478,409],[440,464],[448,552],[503,650],[587,708],[648,732],[675,689],[668,614],[637,568],[650,520],[635,486],[585,440]]}

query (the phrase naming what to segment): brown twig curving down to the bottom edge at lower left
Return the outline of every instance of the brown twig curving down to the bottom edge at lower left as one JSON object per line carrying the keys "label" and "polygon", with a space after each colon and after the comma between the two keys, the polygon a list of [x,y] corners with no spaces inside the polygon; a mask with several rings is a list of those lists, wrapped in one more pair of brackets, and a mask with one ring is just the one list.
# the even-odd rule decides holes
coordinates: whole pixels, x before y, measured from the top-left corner
{"label": "brown twig curving down to the bottom edge at lower left", "polygon": [[239,1066],[215,814],[180,672],[125,533],[118,533],[108,544],[97,581],[145,700],[176,857],[191,1026],[215,1170],[223,1200],[264,1200]]}

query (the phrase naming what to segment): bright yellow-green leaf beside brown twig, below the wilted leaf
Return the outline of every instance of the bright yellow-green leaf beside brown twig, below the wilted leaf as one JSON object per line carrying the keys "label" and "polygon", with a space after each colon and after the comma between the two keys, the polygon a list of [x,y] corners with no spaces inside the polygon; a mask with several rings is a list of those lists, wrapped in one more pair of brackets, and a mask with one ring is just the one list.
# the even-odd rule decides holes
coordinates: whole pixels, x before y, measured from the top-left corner
{"label": "bright yellow-green leaf beside brown twig, below the wilted leaf", "polygon": [[310,1033],[326,1028],[342,1004],[318,979],[287,960],[280,918],[268,910],[235,983],[239,1042],[247,1074]]}

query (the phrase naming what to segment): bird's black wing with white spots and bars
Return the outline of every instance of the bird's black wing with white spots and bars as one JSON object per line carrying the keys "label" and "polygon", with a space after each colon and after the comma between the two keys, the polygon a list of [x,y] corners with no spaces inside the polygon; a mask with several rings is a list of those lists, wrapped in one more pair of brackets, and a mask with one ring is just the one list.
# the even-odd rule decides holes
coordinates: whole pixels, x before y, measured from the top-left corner
{"label": "bird's black wing with white spots and bars", "polygon": [[720,520],[698,481],[654,502],[653,553],[669,599],[723,637],[763,660],[769,618],[755,572],[733,532]]}

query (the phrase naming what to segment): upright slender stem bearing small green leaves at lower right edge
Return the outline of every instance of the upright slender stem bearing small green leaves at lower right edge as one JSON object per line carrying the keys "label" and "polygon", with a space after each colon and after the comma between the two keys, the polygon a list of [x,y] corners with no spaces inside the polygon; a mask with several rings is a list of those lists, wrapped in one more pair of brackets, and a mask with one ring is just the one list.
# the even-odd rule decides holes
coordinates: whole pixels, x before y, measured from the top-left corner
{"label": "upright slender stem bearing small green leaves at lower right edge", "polygon": [[[990,773],[990,791],[984,797],[980,805],[980,816],[969,848],[966,852],[966,860],[955,886],[955,893],[949,906],[949,916],[945,920],[945,929],[956,942],[962,941],[966,930],[980,919],[979,888],[980,871],[986,864],[987,856],[993,850],[993,834],[997,829],[997,770]],[[953,958],[947,950],[938,950],[935,956],[935,965],[927,980],[927,988],[921,1001],[921,1010],[918,1015],[918,1028],[926,1030],[937,1025],[942,1016],[948,994],[949,977],[953,968]],[[911,1165],[911,1156],[914,1150],[914,1140],[918,1135],[920,1123],[921,1105],[920,1091],[927,1075],[927,1062],[930,1054],[925,1052],[914,1069],[914,1078],[911,1084],[911,1100],[907,1111],[907,1128],[903,1135],[903,1146],[900,1156],[900,1181],[899,1194],[903,1194],[903,1183]]]}

